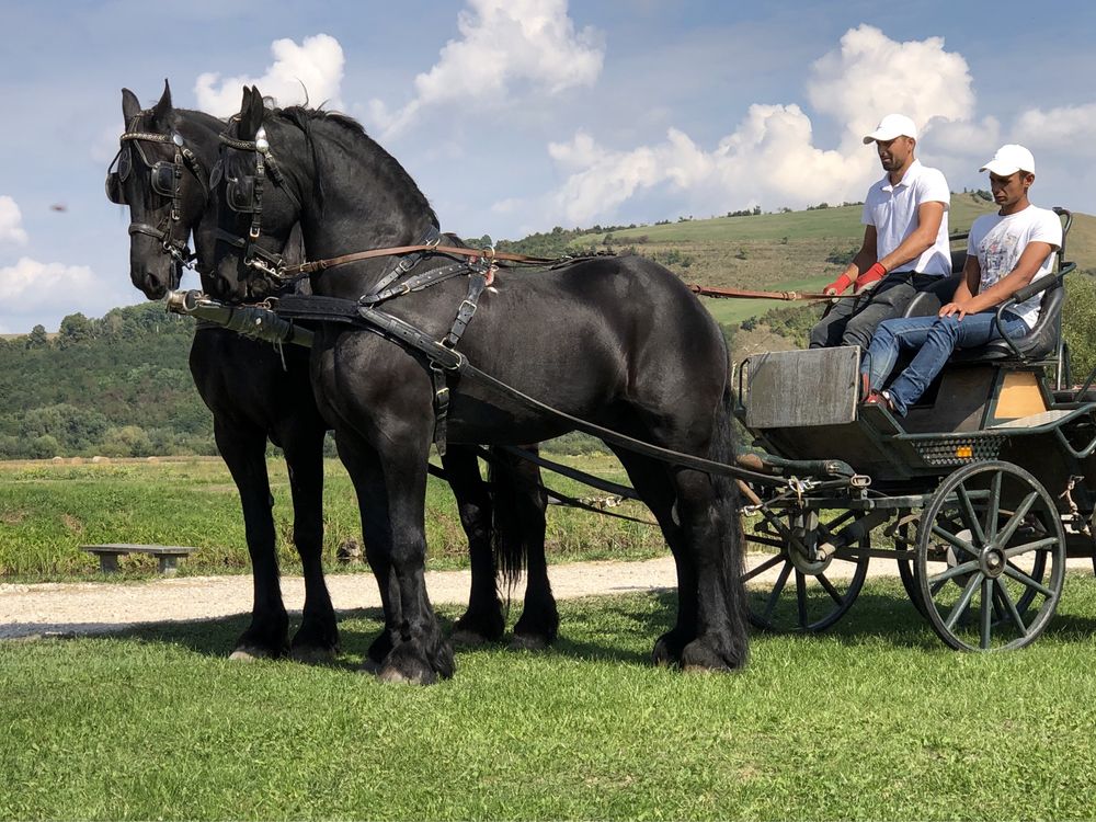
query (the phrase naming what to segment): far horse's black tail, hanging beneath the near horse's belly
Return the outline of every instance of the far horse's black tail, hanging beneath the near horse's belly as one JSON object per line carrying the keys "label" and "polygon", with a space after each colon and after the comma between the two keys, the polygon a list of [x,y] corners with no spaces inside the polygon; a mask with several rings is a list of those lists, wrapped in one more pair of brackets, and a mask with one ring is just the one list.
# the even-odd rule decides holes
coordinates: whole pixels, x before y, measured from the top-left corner
{"label": "far horse's black tail, hanging beneath the near horse's belly", "polygon": [[[536,452],[536,446],[526,449]],[[510,590],[525,571],[529,551],[544,552],[547,499],[537,466],[501,448],[491,448],[491,454],[488,470],[492,498],[491,548]]]}

